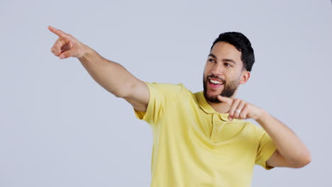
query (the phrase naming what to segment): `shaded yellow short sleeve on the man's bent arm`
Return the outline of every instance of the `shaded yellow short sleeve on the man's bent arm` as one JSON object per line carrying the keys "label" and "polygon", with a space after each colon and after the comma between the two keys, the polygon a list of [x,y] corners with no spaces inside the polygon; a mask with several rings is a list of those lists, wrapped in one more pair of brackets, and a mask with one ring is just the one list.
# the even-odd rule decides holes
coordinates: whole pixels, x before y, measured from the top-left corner
{"label": "shaded yellow short sleeve on the man's bent arm", "polygon": [[269,170],[274,168],[273,166],[269,166],[266,164],[267,160],[272,156],[272,154],[277,150],[275,143],[272,141],[270,135],[265,132],[265,130],[261,129],[261,137],[258,145],[258,152],[256,154],[255,164],[258,164],[265,169]]}

